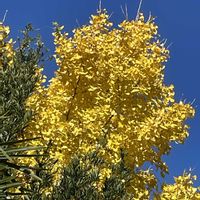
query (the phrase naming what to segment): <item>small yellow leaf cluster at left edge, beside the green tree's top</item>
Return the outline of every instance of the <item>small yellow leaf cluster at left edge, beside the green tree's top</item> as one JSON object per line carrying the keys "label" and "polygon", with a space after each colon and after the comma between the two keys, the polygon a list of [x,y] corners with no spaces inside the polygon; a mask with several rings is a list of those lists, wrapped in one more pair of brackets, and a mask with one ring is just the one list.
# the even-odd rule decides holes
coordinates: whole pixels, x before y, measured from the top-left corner
{"label": "small yellow leaf cluster at left edge, beside the green tree's top", "polygon": [[3,67],[4,63],[7,65],[13,64],[13,41],[12,39],[7,41],[9,33],[9,27],[0,22],[0,68]]}

